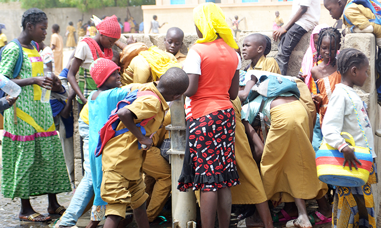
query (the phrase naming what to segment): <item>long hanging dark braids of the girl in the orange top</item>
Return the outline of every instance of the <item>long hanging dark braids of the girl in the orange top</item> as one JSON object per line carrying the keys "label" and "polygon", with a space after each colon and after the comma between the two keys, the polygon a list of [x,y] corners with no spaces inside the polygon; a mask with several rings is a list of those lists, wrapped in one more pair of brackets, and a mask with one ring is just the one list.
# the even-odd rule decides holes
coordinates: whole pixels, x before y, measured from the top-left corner
{"label": "long hanging dark braids of the girl in the orange top", "polygon": [[[315,55],[315,62],[323,59],[323,57],[320,55],[320,49],[322,47],[322,42],[325,36],[328,36],[330,38],[329,50],[331,50],[332,48],[331,47],[332,39],[335,41],[335,55],[337,53],[337,49],[341,41],[341,33],[339,32],[339,30],[333,27],[323,28],[319,32],[319,40],[317,41],[317,48],[316,48],[317,54]],[[329,52],[329,58],[331,61],[331,51]],[[329,63],[331,63],[332,66],[335,66],[336,58],[334,58],[333,61]]]}

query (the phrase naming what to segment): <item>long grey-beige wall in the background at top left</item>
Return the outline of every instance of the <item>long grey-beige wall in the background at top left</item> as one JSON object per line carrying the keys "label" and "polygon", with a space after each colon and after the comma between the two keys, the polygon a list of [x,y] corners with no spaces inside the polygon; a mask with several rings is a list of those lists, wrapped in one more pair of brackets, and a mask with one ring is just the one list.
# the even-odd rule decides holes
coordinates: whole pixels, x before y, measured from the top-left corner
{"label": "long grey-beige wall in the background at top left", "polygon": [[[25,9],[21,9],[19,2],[12,3],[0,3],[0,23],[6,24],[7,29],[3,32],[7,35],[8,40],[11,41],[16,38],[20,32],[21,28],[21,18],[22,14],[25,12]],[[69,25],[69,21],[74,23],[74,27],[77,29],[77,22],[82,18],[82,12],[77,8],[51,8],[51,9],[42,9],[48,16],[48,30],[45,44],[50,44],[50,35],[51,25],[58,24],[60,27],[60,35],[63,38],[63,44],[66,44],[66,27]],[[143,11],[141,7],[129,7],[130,13],[139,24],[143,21]],[[97,17],[102,17],[104,15],[111,16],[115,14],[117,17],[120,17],[121,22],[124,22],[124,18],[127,15],[127,7],[107,7],[103,9],[94,9],[89,10],[88,12],[83,13],[83,21],[87,22],[90,20],[92,15]]]}

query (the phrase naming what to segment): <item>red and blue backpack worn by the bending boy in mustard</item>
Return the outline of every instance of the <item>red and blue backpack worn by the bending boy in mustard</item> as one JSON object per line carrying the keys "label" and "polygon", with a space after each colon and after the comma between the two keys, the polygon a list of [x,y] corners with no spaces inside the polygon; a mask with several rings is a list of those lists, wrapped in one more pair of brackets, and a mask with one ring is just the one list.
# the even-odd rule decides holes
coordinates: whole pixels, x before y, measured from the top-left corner
{"label": "red and blue backpack worn by the bending boy in mustard", "polygon": [[[138,89],[131,91],[127,96],[124,97],[123,100],[117,103],[116,108],[111,112],[111,115],[109,116],[106,124],[101,128],[99,132],[98,144],[96,150],[94,151],[95,157],[99,157],[102,154],[103,148],[110,139],[129,131],[128,128],[123,128],[121,130],[116,131],[116,128],[120,123],[119,117],[117,115],[118,110],[126,105],[132,104],[138,97],[142,96],[154,96],[161,102],[160,98],[152,91],[139,91]],[[155,116],[145,119],[142,122],[136,124],[136,126],[140,128],[140,131],[143,135],[146,134],[144,126],[154,117]],[[139,142],[138,148],[141,149],[141,144]]]}

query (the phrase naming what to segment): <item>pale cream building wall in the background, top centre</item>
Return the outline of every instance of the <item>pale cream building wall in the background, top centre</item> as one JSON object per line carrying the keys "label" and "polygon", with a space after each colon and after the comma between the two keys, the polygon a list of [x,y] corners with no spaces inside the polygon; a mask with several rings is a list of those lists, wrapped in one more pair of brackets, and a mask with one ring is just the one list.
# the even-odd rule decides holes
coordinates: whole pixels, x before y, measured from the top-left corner
{"label": "pale cream building wall in the background, top centre", "polygon": [[[159,1],[170,0],[156,0]],[[190,1],[190,0],[189,0]],[[167,32],[170,27],[179,27],[184,32],[195,32],[195,23],[193,21],[193,9],[197,6],[197,2],[203,0],[193,0],[189,5],[151,5],[142,6],[143,19],[144,19],[144,32],[148,33],[151,26],[152,16],[157,15],[157,21],[161,24],[168,22],[159,29],[161,33]],[[228,0],[227,0],[228,1]],[[230,1],[230,0],[229,0]],[[205,2],[205,1],[204,1]],[[332,19],[329,11],[324,7],[323,1],[321,2],[321,17],[320,24],[327,23],[332,26],[335,20]],[[275,19],[275,11],[279,11],[280,17],[283,18],[284,23],[288,23],[291,15],[292,2],[260,2],[260,3],[226,3],[217,4],[224,11],[226,20],[230,26],[231,21],[228,18],[234,18],[238,15],[239,18],[245,17],[241,21],[239,28],[241,30],[249,31],[266,31],[272,30],[272,24]]]}

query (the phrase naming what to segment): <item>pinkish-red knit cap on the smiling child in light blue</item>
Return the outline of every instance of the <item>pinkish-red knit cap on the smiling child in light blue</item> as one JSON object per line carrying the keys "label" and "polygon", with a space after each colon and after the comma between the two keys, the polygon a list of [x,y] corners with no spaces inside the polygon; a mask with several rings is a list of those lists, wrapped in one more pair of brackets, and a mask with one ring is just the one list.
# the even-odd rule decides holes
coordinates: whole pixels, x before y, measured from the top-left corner
{"label": "pinkish-red knit cap on the smiling child in light blue", "polygon": [[101,87],[115,70],[120,70],[120,67],[105,58],[98,58],[90,65],[90,75],[98,85],[97,88]]}

